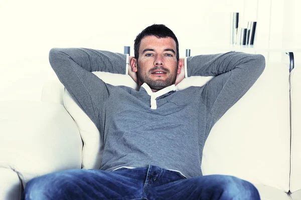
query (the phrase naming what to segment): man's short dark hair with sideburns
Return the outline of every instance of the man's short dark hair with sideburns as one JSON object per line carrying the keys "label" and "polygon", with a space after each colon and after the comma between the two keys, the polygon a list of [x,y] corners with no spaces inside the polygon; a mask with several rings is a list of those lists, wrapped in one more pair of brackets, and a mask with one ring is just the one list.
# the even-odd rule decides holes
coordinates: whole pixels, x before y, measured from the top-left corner
{"label": "man's short dark hair with sideburns", "polygon": [[145,36],[155,35],[158,38],[172,37],[176,41],[177,60],[179,61],[179,42],[175,33],[164,24],[153,24],[142,30],[134,40],[134,56],[138,60],[141,39]]}

